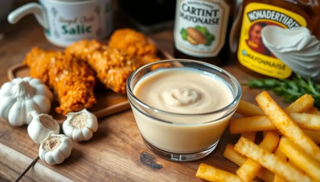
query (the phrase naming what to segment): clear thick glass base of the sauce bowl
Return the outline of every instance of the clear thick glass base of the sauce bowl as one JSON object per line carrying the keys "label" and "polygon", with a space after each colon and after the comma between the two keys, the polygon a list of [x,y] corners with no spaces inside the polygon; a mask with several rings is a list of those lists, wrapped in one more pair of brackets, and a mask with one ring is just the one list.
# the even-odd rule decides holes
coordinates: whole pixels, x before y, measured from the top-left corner
{"label": "clear thick glass base of the sauce bowl", "polygon": [[178,162],[188,162],[188,161],[194,161],[197,159],[201,159],[207,155],[209,155],[218,145],[218,142],[215,142],[213,145],[208,147],[207,149],[196,152],[196,153],[191,153],[191,154],[175,154],[171,152],[166,152],[164,150],[158,149],[152,144],[150,144],[146,139],[142,137],[143,142],[146,144],[148,149],[150,149],[154,154],[156,154],[159,157],[162,157],[164,159],[172,160],[172,161],[178,161]]}

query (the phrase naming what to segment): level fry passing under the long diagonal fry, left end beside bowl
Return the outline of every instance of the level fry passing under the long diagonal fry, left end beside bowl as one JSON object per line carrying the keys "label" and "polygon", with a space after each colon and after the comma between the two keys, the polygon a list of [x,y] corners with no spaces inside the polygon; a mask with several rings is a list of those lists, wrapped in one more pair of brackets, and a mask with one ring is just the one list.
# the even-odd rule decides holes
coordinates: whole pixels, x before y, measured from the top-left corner
{"label": "level fry passing under the long diagonal fry, left end beside bowl", "polygon": [[[300,128],[320,131],[320,116],[306,113],[289,113],[288,115]],[[267,116],[232,119],[229,122],[229,128],[231,134],[277,129]]]}

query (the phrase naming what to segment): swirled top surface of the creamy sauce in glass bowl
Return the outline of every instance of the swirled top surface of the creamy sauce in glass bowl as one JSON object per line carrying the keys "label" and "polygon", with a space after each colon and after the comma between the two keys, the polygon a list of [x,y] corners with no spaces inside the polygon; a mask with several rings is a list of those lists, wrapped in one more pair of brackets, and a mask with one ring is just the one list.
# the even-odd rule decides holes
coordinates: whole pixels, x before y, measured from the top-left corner
{"label": "swirled top surface of the creamy sauce in glass bowl", "polygon": [[209,113],[233,100],[223,79],[192,68],[170,68],[144,76],[134,95],[143,103],[171,113]]}

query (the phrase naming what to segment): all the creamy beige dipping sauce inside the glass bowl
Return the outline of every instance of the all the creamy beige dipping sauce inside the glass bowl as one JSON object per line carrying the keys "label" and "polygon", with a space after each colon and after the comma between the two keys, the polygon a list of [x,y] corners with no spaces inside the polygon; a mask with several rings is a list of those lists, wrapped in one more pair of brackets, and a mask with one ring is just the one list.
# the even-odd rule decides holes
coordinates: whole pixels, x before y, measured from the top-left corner
{"label": "all the creamy beige dipping sauce inside the glass bowl", "polygon": [[160,69],[143,76],[133,94],[156,110],[132,107],[141,135],[156,148],[176,154],[216,145],[234,110],[210,112],[233,102],[230,87],[220,76],[195,68]]}

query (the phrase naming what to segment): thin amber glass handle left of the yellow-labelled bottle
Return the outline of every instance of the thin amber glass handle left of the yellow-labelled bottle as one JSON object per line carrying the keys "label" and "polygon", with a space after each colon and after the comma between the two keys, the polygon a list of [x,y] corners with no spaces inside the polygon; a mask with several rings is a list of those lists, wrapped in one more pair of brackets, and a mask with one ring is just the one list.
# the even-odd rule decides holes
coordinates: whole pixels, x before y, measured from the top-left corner
{"label": "thin amber glass handle left of the yellow-labelled bottle", "polygon": [[230,47],[230,51],[232,53],[236,53],[237,48],[238,48],[238,44],[239,44],[239,41],[237,41],[237,40],[240,39],[239,33],[241,31],[241,20],[242,20],[242,17],[243,17],[242,4],[240,5],[239,9],[240,10],[238,11],[236,19],[233,22],[233,25],[232,25],[231,30],[230,30],[230,35],[229,35],[229,47]]}

